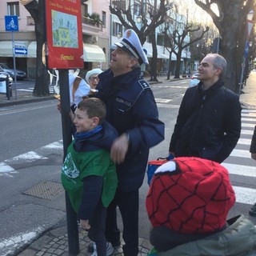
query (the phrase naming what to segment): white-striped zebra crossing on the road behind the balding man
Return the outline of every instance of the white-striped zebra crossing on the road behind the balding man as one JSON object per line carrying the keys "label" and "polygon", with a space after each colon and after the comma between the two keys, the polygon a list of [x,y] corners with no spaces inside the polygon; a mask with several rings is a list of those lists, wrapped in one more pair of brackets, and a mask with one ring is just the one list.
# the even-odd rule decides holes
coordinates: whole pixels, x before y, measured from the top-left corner
{"label": "white-striped zebra crossing on the road behind the balding man", "polygon": [[[250,205],[256,202],[256,161],[250,158],[250,142],[255,125],[256,110],[242,110],[242,130],[238,144],[222,163],[230,173],[236,202]],[[250,179],[250,184],[247,184],[246,179]]]}

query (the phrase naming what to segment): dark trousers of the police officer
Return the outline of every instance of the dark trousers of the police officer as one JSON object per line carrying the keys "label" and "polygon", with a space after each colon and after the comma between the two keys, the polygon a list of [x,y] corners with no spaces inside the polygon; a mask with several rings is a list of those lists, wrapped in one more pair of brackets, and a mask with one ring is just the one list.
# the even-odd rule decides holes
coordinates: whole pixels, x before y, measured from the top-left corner
{"label": "dark trousers of the police officer", "polygon": [[112,244],[120,241],[120,231],[117,224],[117,206],[122,215],[125,245],[122,250],[125,256],[138,255],[138,190],[129,192],[117,191],[113,201],[107,208],[106,240]]}

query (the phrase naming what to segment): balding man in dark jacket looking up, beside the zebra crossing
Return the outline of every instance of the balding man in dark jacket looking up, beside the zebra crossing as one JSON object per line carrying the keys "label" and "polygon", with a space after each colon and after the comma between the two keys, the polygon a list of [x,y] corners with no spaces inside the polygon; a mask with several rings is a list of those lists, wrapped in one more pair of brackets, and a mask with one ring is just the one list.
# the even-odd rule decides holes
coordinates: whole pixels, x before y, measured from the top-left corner
{"label": "balding man in dark jacket looking up, beside the zebra crossing", "polygon": [[194,156],[223,162],[241,132],[238,95],[224,87],[226,60],[207,54],[198,67],[198,86],[186,90],[178,111],[169,151],[175,157]]}

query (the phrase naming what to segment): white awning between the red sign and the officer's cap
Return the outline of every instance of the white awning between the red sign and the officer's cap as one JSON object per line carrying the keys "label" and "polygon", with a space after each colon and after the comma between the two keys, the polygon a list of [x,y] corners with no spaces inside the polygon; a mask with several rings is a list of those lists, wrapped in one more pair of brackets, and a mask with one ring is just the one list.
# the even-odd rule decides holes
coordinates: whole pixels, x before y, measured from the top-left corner
{"label": "white awning between the red sign and the officer's cap", "polygon": [[106,56],[101,47],[83,44],[83,59],[84,62],[106,62]]}

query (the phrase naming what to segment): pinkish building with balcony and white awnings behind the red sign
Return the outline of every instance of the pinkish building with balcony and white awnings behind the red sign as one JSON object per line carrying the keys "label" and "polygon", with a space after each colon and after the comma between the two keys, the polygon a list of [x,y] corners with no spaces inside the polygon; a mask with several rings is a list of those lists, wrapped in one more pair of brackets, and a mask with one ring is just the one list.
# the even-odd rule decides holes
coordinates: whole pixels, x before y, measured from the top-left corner
{"label": "pinkish building with balcony and white awnings behind the red sign", "polygon": [[[108,1],[81,2],[84,72],[95,67],[105,70],[109,62],[110,10]],[[18,31],[6,31],[6,17],[18,16]],[[16,52],[14,49],[23,49]],[[36,76],[36,36],[34,19],[19,1],[0,1],[0,62],[23,70],[27,78]]]}

